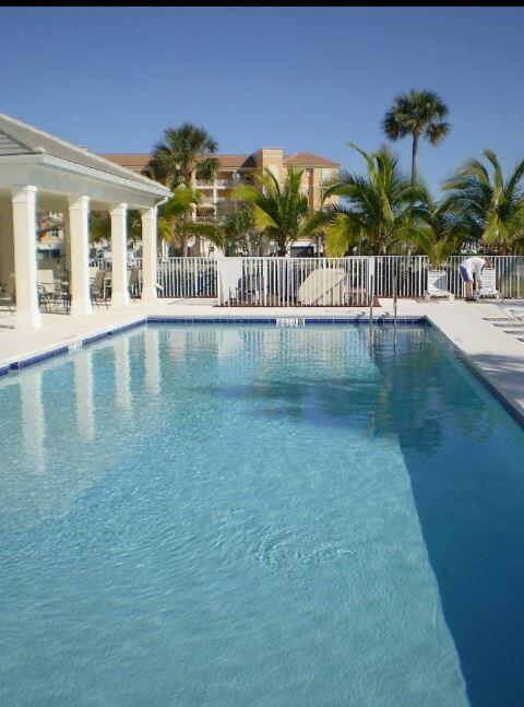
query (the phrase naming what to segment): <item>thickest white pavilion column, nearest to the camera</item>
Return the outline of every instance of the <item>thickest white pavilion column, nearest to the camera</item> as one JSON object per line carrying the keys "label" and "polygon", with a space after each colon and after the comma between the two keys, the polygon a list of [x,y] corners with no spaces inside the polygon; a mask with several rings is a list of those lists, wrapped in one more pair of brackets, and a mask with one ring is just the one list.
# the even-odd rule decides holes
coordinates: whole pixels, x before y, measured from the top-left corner
{"label": "thickest white pavilion column, nearest to the camera", "polygon": [[16,326],[41,326],[36,283],[36,187],[12,189]]}

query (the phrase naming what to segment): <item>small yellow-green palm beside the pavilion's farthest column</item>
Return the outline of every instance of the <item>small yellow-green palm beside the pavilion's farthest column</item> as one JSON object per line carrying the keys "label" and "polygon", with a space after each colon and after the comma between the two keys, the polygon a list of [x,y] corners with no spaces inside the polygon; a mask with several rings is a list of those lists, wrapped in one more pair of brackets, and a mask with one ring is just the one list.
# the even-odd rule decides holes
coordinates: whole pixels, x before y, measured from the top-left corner
{"label": "small yellow-green palm beside the pavilion's farthest column", "polygon": [[199,203],[199,199],[198,191],[180,185],[174,190],[171,199],[160,207],[158,217],[160,238],[171,246],[181,248],[183,257],[188,255],[188,239],[191,236],[206,238],[218,247],[223,246],[223,234],[216,224],[188,220],[188,214]]}

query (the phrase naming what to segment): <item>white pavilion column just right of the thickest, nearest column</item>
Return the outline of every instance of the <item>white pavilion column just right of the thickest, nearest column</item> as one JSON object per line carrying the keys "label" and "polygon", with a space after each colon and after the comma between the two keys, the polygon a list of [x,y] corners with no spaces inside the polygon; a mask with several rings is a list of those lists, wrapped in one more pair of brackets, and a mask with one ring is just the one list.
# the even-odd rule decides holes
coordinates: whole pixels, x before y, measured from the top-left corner
{"label": "white pavilion column just right of the thickest, nearest column", "polygon": [[90,293],[90,198],[70,197],[71,314],[91,315]]}

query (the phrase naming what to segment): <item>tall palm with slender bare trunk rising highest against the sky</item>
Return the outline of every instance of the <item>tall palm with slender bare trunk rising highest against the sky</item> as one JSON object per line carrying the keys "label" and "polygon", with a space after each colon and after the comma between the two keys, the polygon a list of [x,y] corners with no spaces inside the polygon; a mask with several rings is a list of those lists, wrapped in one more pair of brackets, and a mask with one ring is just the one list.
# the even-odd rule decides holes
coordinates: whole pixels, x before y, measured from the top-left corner
{"label": "tall palm with slender bare trunk rising highest against the sky", "polygon": [[393,106],[385,114],[382,129],[390,140],[400,140],[412,135],[412,185],[417,181],[418,141],[424,135],[432,145],[439,144],[450,131],[450,123],[444,120],[448,106],[432,91],[401,93]]}

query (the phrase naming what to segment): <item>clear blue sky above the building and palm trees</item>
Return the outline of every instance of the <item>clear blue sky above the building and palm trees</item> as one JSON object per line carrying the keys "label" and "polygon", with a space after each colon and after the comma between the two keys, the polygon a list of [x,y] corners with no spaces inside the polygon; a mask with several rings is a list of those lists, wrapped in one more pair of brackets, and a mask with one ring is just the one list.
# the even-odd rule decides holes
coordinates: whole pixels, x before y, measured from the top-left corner
{"label": "clear blue sky above the building and palm trees", "polygon": [[[466,158],[524,157],[522,8],[3,8],[0,111],[94,152],[148,152],[201,125],[221,152],[282,146],[362,170],[410,89],[452,130],[424,143],[438,191]],[[409,167],[410,143],[392,145]]]}

